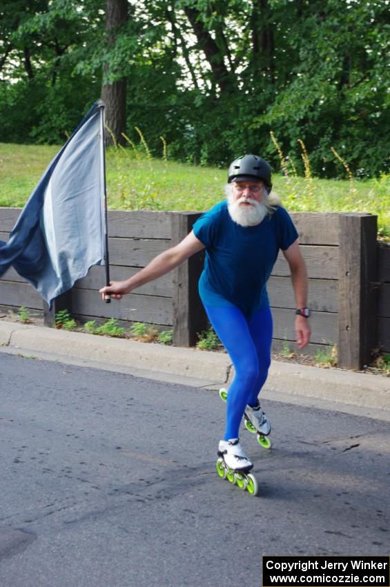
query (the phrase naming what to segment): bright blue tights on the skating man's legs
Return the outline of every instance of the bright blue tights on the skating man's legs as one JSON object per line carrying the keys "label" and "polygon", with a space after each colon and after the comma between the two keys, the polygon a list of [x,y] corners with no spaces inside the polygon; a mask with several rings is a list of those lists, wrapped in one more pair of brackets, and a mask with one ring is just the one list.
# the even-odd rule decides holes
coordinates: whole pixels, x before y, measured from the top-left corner
{"label": "bright blue tights on the skating man's legs", "polygon": [[229,387],[224,440],[239,435],[246,405],[255,406],[271,364],[272,314],[269,307],[247,320],[237,307],[205,305],[208,319],[234,365],[235,378]]}

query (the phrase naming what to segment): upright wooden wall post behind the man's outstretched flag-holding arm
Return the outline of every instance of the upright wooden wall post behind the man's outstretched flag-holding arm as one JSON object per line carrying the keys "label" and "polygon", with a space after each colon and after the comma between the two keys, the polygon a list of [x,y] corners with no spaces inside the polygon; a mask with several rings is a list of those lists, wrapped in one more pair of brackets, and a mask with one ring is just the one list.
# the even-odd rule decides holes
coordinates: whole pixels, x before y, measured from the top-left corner
{"label": "upright wooden wall post behind the man's outstretched flag-holding arm", "polygon": [[[172,244],[180,241],[193,227],[200,213],[173,212]],[[204,266],[204,251],[193,255],[173,271],[173,343],[190,347],[197,342],[197,333],[208,325],[206,312],[199,298],[197,284]]]}

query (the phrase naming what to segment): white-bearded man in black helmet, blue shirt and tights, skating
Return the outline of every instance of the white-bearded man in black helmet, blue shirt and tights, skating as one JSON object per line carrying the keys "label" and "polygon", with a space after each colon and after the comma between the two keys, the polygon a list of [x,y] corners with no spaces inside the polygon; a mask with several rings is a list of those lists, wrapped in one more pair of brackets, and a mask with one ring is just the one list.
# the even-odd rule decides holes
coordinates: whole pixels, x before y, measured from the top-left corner
{"label": "white-bearded man in black helmet, blue shirt and tights, skating", "polygon": [[310,340],[308,280],[289,214],[275,205],[271,167],[257,155],[244,155],[228,170],[226,200],[204,213],[182,242],[164,251],[125,281],[111,282],[100,292],[120,300],[188,257],[206,249],[199,296],[208,318],[235,367],[226,397],[226,429],[218,454],[233,471],[248,472],[253,464],[239,440],[242,418],[262,436],[271,432],[257,396],[271,363],[273,322],[266,282],[279,250],[289,263],[295,294],[298,347]]}

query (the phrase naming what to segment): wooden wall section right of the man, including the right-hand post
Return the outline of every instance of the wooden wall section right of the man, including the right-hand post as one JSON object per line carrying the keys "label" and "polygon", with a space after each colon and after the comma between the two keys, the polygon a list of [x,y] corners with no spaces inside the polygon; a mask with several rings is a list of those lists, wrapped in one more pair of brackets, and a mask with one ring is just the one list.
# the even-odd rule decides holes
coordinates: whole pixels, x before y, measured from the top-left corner
{"label": "wooden wall section right of the man, including the right-hand post", "polygon": [[[376,346],[376,216],[291,213],[309,274],[311,345],[338,345],[338,364],[356,368]],[[274,343],[295,340],[289,266],[280,253],[269,282]]]}

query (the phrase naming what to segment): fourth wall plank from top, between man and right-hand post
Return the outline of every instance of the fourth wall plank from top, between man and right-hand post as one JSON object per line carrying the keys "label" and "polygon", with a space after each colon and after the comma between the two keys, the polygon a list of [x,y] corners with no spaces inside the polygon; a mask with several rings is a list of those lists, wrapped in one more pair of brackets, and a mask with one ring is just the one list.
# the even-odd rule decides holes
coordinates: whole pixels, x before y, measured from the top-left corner
{"label": "fourth wall plank from top, between man and right-hand post", "polygon": [[[273,337],[295,340],[295,313],[284,308],[271,308],[273,315]],[[312,312],[310,318],[311,343],[335,344],[338,338],[338,315],[330,312]]]}

